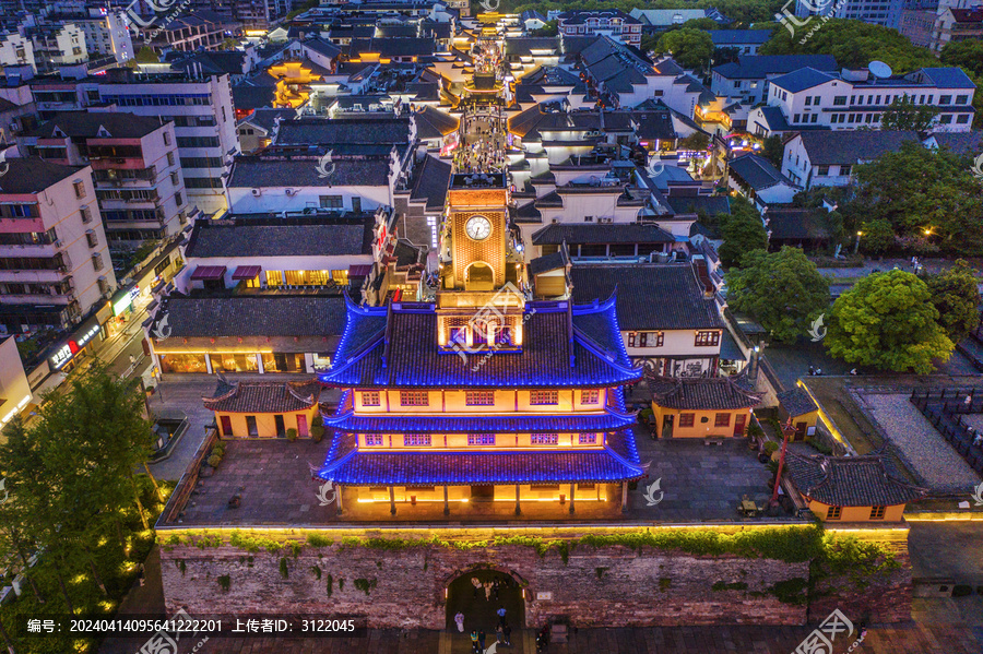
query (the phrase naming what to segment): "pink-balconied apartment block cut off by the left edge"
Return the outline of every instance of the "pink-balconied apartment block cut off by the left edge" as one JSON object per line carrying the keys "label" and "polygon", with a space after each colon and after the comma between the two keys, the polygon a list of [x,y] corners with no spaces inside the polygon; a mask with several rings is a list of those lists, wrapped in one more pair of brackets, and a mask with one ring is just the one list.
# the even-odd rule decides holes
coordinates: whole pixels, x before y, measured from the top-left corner
{"label": "pink-balconied apartment block cut off by the left edge", "polygon": [[92,167],[38,157],[4,166],[0,332],[68,329],[116,288]]}

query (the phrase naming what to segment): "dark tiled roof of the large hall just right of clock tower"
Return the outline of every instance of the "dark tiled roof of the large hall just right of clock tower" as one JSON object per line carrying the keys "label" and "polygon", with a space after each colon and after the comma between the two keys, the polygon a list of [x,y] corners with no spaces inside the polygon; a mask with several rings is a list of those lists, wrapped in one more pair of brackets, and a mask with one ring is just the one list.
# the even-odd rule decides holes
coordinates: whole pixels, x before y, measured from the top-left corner
{"label": "dark tiled roof of the large hall just right of clock tower", "polygon": [[621,331],[722,329],[715,302],[689,264],[578,264],[571,269],[573,301],[617,294]]}

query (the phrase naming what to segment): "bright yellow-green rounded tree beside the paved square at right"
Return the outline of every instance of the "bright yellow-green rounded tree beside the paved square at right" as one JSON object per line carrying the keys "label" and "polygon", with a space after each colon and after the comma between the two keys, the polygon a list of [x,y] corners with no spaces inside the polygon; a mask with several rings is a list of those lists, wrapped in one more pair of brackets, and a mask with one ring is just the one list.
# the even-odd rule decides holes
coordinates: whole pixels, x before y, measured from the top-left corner
{"label": "bright yellow-green rounded tree beside the paved square at right", "polygon": [[833,304],[825,343],[849,364],[927,374],[955,348],[937,321],[922,280],[900,270],[875,273]]}

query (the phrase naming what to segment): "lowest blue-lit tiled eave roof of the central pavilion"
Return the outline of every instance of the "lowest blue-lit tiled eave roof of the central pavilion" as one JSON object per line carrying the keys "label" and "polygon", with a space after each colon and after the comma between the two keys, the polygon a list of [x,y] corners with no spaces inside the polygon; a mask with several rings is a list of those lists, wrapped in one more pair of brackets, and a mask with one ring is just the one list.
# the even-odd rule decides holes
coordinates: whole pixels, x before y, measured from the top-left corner
{"label": "lowest blue-lit tiled eave roof of the central pavilion", "polygon": [[318,475],[350,486],[616,483],[643,474],[630,432],[608,435],[602,449],[501,452],[366,452],[335,433]]}

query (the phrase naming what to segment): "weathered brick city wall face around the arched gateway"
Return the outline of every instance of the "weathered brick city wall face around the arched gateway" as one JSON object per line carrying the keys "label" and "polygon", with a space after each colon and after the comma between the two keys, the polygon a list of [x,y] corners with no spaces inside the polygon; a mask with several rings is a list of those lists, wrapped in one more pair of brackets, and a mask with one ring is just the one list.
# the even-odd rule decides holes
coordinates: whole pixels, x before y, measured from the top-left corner
{"label": "weathered brick city wall face around the arched gateway", "polygon": [[[442,629],[446,585],[466,571],[490,566],[528,582],[525,613],[531,626],[556,617],[579,627],[801,625],[806,620],[805,606],[784,604],[766,590],[780,581],[807,576],[807,563],[692,557],[652,549],[636,552],[621,546],[581,546],[565,563],[556,550],[541,558],[533,548],[514,545],[395,552],[305,547],[299,557],[286,554],[285,560],[286,578],[281,573],[280,555],[249,555],[229,546],[165,549],[162,574],[168,613],[186,607],[191,615],[358,615],[367,617],[370,627]],[[321,571],[320,580],[315,567]],[[227,592],[218,584],[218,576],[226,574]],[[369,595],[356,588],[356,579],[376,581]],[[718,582],[747,587],[714,591]],[[552,599],[536,601],[542,592],[552,593]]]}

